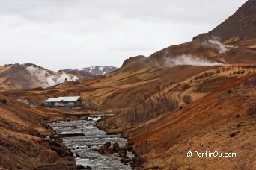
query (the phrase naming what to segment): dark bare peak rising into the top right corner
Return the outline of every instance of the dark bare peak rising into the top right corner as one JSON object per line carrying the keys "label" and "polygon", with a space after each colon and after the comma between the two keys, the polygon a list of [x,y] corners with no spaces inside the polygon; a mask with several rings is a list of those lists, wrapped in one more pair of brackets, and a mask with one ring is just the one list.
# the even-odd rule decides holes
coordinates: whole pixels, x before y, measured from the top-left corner
{"label": "dark bare peak rising into the top right corner", "polygon": [[256,37],[256,1],[249,0],[232,16],[209,33],[200,34],[193,40],[219,37],[222,42],[232,42]]}

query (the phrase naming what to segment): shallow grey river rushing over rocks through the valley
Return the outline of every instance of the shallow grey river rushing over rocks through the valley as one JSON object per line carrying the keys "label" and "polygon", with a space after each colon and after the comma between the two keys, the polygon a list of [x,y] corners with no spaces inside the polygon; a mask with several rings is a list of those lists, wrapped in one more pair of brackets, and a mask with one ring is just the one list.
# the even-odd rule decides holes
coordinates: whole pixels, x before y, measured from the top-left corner
{"label": "shallow grey river rushing over rocks through the valley", "polygon": [[[88,117],[88,120],[60,121],[50,124],[53,130],[62,137],[64,144],[70,148],[76,157],[76,165],[88,166],[92,169],[132,169],[129,163],[121,163],[119,154],[100,154],[99,148],[106,142],[118,143],[124,147],[127,139],[119,134],[109,135],[96,126],[98,117]],[[134,155],[127,152],[127,157]]]}

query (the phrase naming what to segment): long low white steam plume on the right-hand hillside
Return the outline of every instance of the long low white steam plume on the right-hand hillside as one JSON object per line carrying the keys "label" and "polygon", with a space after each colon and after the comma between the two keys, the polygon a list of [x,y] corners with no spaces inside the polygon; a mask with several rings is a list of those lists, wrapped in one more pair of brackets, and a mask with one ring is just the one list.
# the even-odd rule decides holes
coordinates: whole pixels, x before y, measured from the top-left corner
{"label": "long low white steam plume on the right-hand hillside", "polygon": [[165,64],[168,66],[179,66],[179,65],[216,66],[216,65],[222,65],[222,63],[211,62],[210,60],[194,58],[190,55],[185,55],[185,54],[177,56],[177,57],[166,58]]}

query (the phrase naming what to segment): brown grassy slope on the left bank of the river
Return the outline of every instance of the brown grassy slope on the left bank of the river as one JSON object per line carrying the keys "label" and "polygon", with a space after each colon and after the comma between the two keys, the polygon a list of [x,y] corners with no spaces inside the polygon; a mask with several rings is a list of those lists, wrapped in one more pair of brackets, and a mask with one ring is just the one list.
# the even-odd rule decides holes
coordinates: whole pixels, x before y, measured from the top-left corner
{"label": "brown grassy slope on the left bank of the river", "polygon": [[52,136],[46,121],[61,117],[58,110],[35,108],[0,94],[0,165],[5,169],[76,165],[66,148],[46,139],[46,135]]}

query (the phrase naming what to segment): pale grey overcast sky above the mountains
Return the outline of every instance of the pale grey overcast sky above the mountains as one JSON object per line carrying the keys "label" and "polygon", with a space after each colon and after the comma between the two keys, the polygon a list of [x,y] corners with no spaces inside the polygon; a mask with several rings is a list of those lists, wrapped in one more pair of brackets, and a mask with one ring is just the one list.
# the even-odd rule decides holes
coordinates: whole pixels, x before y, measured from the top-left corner
{"label": "pale grey overcast sky above the mountains", "polygon": [[0,0],[0,65],[121,66],[192,40],[246,0]]}

